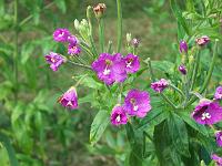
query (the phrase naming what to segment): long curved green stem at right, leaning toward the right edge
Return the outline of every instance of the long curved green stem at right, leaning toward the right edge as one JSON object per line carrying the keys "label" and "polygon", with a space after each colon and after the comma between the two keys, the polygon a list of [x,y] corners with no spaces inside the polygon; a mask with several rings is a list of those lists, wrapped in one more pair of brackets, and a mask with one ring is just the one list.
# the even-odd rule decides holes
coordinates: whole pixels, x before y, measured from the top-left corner
{"label": "long curved green stem at right, leaning toward the right edge", "polygon": [[[209,82],[211,80],[211,76],[212,76],[212,73],[213,73],[213,69],[214,69],[214,65],[215,65],[215,62],[216,62],[216,58],[218,58],[218,40],[215,40],[215,45],[214,45],[214,50],[213,51],[214,51],[213,52],[213,59],[212,59],[208,75],[205,77],[205,81],[203,82],[203,86],[200,90],[200,94],[202,94],[205,91],[205,89],[208,87],[208,84],[209,84]],[[192,97],[188,102],[186,106],[191,105],[195,100],[196,100],[196,97]]]}

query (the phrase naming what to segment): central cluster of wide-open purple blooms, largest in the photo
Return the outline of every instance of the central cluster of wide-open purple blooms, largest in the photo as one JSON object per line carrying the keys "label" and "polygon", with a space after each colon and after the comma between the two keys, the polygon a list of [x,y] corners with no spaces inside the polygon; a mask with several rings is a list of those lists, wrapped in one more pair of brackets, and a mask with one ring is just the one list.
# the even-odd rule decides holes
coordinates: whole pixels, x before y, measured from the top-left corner
{"label": "central cluster of wide-open purple blooms, largest in the photo", "polygon": [[123,58],[120,53],[114,55],[101,53],[91,66],[97,72],[99,80],[111,85],[114,82],[124,82],[128,73],[135,73],[140,69],[140,61],[133,54]]}

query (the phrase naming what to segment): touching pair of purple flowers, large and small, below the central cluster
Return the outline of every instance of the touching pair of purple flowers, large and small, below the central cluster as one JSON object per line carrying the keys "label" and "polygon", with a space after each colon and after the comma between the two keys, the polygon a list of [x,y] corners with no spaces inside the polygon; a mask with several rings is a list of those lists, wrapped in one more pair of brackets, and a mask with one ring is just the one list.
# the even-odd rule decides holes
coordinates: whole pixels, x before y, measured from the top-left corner
{"label": "touching pair of purple flowers, large and small, below the central cluster", "polygon": [[117,105],[111,113],[111,123],[113,125],[127,124],[128,115],[144,117],[151,110],[150,95],[145,91],[131,90],[128,92],[124,104]]}

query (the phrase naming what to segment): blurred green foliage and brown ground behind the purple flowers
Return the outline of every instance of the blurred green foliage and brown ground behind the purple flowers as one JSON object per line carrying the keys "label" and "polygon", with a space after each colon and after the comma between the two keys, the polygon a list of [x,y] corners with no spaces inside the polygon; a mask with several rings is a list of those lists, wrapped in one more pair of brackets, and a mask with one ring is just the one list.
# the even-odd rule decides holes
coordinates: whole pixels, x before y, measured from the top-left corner
{"label": "blurred green foliage and brown ground behind the purple flowers", "polygon": [[[18,14],[14,14],[16,2]],[[114,0],[0,0],[0,133],[11,141],[22,166],[124,163],[124,153],[129,151],[124,131],[117,134],[118,128],[110,126],[101,142],[92,147],[89,131],[97,111],[90,104],[80,103],[78,111],[70,112],[57,103],[62,92],[73,84],[71,77],[79,69],[62,66],[59,72],[52,72],[43,59],[49,51],[62,49],[53,42],[53,31],[68,28],[75,33],[74,19],[85,18],[87,7],[98,2],[107,4],[105,40],[115,43]],[[173,60],[176,23],[168,1],[122,0],[122,7],[123,38],[130,32],[140,39],[139,55]],[[78,93],[83,96],[90,90],[81,89]],[[9,165],[1,144],[0,165]]]}

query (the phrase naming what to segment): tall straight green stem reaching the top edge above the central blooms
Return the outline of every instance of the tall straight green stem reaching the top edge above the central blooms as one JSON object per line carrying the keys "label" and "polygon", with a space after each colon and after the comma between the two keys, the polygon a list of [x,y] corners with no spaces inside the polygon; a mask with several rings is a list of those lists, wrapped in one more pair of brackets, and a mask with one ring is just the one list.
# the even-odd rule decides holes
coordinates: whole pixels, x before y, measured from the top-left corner
{"label": "tall straight green stem reaching the top edge above the central blooms", "polygon": [[121,51],[122,45],[122,4],[121,0],[117,0],[118,7],[118,49],[117,52]]}

